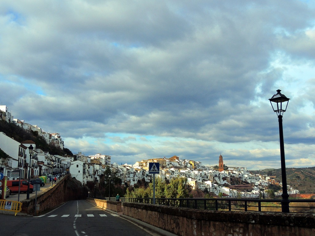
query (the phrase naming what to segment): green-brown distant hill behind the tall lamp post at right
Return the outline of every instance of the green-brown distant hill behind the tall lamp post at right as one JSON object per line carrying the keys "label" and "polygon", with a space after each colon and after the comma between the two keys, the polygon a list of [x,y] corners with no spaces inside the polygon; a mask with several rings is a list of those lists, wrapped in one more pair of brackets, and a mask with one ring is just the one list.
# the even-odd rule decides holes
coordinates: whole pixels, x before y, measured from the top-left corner
{"label": "green-brown distant hill behind the tall lamp post at right", "polygon": [[[251,171],[253,174],[275,176],[277,182],[282,182],[281,169],[264,169]],[[315,193],[315,166],[305,168],[286,168],[287,184],[298,189],[301,194]]]}

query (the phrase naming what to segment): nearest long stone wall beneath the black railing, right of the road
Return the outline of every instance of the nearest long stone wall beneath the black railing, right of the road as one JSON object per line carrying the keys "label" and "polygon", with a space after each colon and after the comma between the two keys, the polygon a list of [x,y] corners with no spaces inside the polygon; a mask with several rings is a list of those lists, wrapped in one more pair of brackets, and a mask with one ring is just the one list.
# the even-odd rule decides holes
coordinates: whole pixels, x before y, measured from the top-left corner
{"label": "nearest long stone wall beneath the black railing, right of the road", "polygon": [[314,214],[207,211],[124,202],[123,215],[182,236],[315,235]]}

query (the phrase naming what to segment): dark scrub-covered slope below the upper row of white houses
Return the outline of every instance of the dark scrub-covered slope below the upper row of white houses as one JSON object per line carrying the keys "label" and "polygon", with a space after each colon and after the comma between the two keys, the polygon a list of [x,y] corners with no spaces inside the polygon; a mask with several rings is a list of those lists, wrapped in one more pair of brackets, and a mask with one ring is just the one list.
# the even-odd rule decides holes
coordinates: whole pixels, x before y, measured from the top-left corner
{"label": "dark scrub-covered slope below the upper row of white houses", "polygon": [[[16,126],[13,123],[8,123],[6,121],[0,121],[0,132],[5,133],[8,137],[13,138],[17,142],[23,142],[25,140],[32,140],[36,143],[36,147],[42,149],[44,152],[49,152],[52,155],[71,155],[72,152],[64,148],[63,150],[60,147],[46,143],[46,141],[38,136],[38,132],[27,132],[23,128]],[[1,154],[1,153],[0,153]]]}

